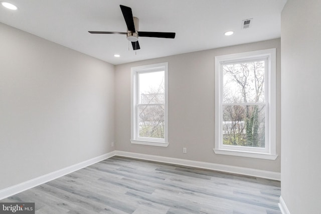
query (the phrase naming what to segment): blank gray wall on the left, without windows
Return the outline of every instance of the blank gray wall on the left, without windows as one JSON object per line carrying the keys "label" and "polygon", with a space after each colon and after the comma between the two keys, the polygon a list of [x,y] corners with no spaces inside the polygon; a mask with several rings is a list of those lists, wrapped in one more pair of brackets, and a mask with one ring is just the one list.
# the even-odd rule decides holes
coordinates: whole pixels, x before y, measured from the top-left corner
{"label": "blank gray wall on the left, without windows", "polygon": [[114,66],[0,32],[0,189],[111,151]]}

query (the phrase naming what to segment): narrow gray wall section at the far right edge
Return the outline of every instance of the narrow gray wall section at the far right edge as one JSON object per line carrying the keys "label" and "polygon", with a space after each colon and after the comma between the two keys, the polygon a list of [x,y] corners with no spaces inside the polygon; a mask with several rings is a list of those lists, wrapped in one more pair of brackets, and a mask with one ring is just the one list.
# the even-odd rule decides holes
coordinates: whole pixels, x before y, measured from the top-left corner
{"label": "narrow gray wall section at the far right edge", "polygon": [[291,214],[321,213],[321,1],[288,0],[281,15],[281,196]]}

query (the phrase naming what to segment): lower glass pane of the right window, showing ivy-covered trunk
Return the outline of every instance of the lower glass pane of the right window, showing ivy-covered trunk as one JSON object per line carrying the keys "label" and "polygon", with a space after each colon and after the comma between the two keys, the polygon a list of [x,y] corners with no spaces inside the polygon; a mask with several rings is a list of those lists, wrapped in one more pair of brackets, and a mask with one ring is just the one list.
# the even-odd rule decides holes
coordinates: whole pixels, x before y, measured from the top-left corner
{"label": "lower glass pane of the right window, showing ivy-covered trunk", "polygon": [[223,106],[223,144],[265,147],[265,105]]}

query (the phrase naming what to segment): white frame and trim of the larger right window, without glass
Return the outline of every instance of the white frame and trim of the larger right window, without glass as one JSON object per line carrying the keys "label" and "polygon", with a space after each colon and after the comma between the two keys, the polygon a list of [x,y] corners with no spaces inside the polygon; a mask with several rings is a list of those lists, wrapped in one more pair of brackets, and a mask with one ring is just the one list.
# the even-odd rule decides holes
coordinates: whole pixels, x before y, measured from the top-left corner
{"label": "white frame and trim of the larger right window, without glass", "polygon": [[[265,59],[265,148],[223,144],[223,64]],[[260,104],[260,103],[258,103]],[[216,154],[275,160],[276,154],[276,49],[215,57],[215,145]]]}

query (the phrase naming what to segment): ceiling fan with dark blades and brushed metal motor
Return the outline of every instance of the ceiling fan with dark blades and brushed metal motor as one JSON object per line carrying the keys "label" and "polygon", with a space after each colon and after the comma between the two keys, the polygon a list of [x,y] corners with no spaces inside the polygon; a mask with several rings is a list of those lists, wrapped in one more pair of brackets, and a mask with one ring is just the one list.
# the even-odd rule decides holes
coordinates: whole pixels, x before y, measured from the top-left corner
{"label": "ceiling fan with dark blades and brushed metal motor", "polygon": [[175,38],[175,33],[138,31],[139,20],[137,17],[132,16],[131,8],[120,5],[120,9],[127,25],[127,33],[106,32],[106,31],[88,31],[88,32],[91,34],[126,34],[127,40],[131,42],[133,50],[140,49],[139,43],[138,43],[138,37],[157,37],[157,38],[169,38],[169,39]]}

